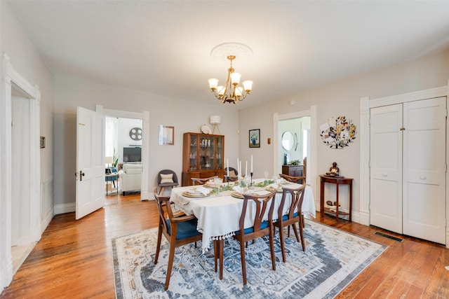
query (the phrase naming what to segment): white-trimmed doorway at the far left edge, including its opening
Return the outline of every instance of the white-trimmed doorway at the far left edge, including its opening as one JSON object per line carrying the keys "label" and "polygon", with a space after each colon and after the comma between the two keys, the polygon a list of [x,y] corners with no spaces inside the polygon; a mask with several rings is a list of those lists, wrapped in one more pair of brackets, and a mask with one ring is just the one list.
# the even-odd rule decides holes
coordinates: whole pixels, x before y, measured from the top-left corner
{"label": "white-trimmed doorway at the far left edge, including its opening", "polygon": [[[34,244],[41,237],[41,228],[46,226],[45,223],[42,223],[40,196],[39,101],[41,95],[36,85],[33,86],[28,83],[13,69],[8,55],[4,54],[3,58],[4,76],[1,81],[2,101],[0,101],[0,165],[2,165],[2,171],[0,172],[0,207],[4,207],[0,209],[0,218],[4,223],[4,227],[0,230],[1,288],[11,283],[13,273],[20,267]],[[18,148],[13,148],[13,128],[11,126],[14,126],[13,97],[18,97],[19,102],[25,103],[22,108],[15,110],[26,113],[27,123],[22,123],[20,117],[14,118],[17,119],[17,127],[26,127],[26,132],[22,134],[21,138],[24,138],[22,141],[28,144],[28,149],[18,156],[20,159],[25,159],[27,163],[24,176],[17,169],[13,170],[13,151],[18,151]],[[17,140],[15,139],[15,141]],[[20,186],[20,188],[26,190],[23,190],[24,192],[21,192],[18,197],[13,193],[13,182],[20,181],[22,177],[27,179],[28,183]],[[15,215],[13,214],[13,197],[15,200],[18,199],[18,205],[14,207]],[[18,221],[18,223],[14,223],[14,232],[13,219]],[[24,245],[17,254],[15,252],[14,266],[11,250],[13,233],[15,234],[13,237],[14,244]]]}

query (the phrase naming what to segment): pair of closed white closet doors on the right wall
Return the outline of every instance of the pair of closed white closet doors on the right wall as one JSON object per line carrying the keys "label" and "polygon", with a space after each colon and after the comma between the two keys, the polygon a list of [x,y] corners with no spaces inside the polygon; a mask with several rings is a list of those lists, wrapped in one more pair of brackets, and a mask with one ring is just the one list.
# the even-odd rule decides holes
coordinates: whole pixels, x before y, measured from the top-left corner
{"label": "pair of closed white closet doors on the right wall", "polygon": [[371,224],[445,244],[445,119],[445,97],[371,109]]}

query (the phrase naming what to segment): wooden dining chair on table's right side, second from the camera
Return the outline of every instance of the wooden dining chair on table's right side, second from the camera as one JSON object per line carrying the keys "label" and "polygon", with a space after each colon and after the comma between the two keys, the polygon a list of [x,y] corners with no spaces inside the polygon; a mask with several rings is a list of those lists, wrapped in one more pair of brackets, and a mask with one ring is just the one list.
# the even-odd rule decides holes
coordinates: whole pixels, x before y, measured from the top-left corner
{"label": "wooden dining chair on table's right side, second from the camera", "polygon": [[[304,190],[306,185],[302,185],[299,188],[283,188],[281,203],[278,209],[278,220],[273,223],[274,229],[279,228],[279,241],[281,242],[282,261],[286,263],[286,246],[284,244],[283,228],[288,227],[288,236],[290,237],[290,227],[295,232],[297,242],[302,244],[302,251],[306,251],[304,242],[304,215],[302,215],[302,202],[304,201]],[[290,207],[288,211],[283,213],[284,205],[286,204],[287,196],[291,196]],[[300,227],[300,235],[297,233],[296,223]]]}

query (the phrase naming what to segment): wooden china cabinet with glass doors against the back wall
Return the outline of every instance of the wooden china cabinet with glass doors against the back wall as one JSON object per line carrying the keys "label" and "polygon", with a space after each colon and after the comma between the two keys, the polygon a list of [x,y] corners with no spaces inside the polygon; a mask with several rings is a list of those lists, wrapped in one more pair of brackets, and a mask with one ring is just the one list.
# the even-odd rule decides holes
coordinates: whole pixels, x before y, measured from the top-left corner
{"label": "wooden china cabinet with glass doors against the back wall", "polygon": [[225,175],[224,155],[224,136],[184,133],[182,186],[192,185],[192,178],[223,177]]}

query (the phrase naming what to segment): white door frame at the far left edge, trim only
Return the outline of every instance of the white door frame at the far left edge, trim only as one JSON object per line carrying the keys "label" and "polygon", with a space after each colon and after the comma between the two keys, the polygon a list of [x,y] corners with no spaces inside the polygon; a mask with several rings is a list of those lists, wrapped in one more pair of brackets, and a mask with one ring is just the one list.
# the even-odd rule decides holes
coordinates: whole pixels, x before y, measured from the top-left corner
{"label": "white door frame at the far left edge, trim only", "polygon": [[39,152],[40,134],[40,101],[39,86],[31,85],[18,71],[13,69],[8,55],[4,54],[2,64],[1,98],[0,101],[0,288],[8,286],[13,279],[13,260],[11,256],[11,206],[12,206],[12,148],[11,120],[12,88],[20,90],[29,99],[29,130],[30,142],[35,146],[30,148],[29,156],[29,242],[37,242],[41,238],[41,155]]}

